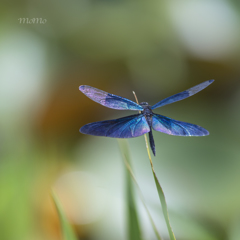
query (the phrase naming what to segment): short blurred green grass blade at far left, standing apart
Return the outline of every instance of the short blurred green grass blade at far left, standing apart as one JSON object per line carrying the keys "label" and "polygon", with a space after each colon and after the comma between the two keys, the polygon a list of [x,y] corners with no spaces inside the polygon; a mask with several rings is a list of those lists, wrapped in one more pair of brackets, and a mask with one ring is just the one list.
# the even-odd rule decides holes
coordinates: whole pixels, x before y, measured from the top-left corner
{"label": "short blurred green grass blade at far left, standing apart", "polygon": [[52,198],[53,198],[54,204],[56,206],[58,216],[60,219],[60,223],[61,223],[62,239],[63,240],[79,240],[77,238],[77,236],[75,235],[75,233],[72,229],[72,226],[68,222],[68,220],[62,210],[62,206],[60,205],[59,200],[54,192],[52,192]]}

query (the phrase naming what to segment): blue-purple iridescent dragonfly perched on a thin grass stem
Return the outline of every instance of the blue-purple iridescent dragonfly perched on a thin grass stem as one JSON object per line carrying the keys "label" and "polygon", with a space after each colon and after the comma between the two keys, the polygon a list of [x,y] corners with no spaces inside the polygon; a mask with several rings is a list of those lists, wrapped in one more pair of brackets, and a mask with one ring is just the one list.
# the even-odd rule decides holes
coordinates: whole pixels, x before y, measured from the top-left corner
{"label": "blue-purple iridescent dragonfly perched on a thin grass stem", "polygon": [[133,110],[139,113],[123,118],[88,123],[80,128],[83,134],[112,138],[134,138],[148,133],[149,143],[154,156],[156,148],[152,129],[177,136],[206,136],[209,132],[198,125],[174,120],[153,112],[154,109],[188,98],[203,90],[214,80],[202,82],[190,89],[149,105],[147,102],[137,104],[127,98],[104,92],[100,89],[81,85],[79,90],[93,101],[116,110]]}

